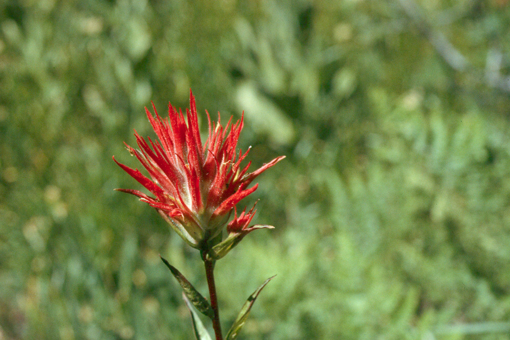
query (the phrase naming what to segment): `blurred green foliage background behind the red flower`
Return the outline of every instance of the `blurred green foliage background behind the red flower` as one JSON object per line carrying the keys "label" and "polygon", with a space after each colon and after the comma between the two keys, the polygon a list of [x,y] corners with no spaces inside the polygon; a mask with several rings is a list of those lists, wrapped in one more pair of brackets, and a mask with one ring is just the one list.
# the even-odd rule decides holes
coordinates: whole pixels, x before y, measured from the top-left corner
{"label": "blurred green foliage background behind the red flower", "polygon": [[[168,101],[240,117],[258,231],[217,264],[244,339],[510,339],[510,4],[0,3],[0,338],[189,339],[206,292],[122,142]],[[203,116],[202,116],[202,122]],[[206,125],[202,124],[204,131]],[[252,201],[245,202],[247,205]]]}

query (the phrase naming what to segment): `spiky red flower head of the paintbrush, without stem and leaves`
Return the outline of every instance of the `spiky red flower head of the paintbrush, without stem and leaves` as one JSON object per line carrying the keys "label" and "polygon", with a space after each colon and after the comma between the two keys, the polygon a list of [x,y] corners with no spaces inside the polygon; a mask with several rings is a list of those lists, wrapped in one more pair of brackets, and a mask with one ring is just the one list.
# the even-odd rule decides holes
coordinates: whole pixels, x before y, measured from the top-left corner
{"label": "spiky red flower head of the paintbrush, without stem and leaves", "polygon": [[[115,158],[114,161],[155,197],[138,190],[117,190],[140,197],[141,201],[156,208],[189,245],[202,248],[221,232],[236,204],[257,189],[257,185],[248,188],[253,179],[285,156],[277,157],[248,173],[251,162],[242,168],[241,162],[249,149],[244,153],[236,150],[243,117],[236,123],[232,123],[231,117],[223,127],[219,114],[218,122],[214,124],[206,111],[209,136],[202,145],[195,98],[191,91],[186,119],[181,110],[177,112],[170,104],[169,117],[165,119],[158,115],[154,104],[152,107],[156,117],[147,109],[145,111],[158,140],[147,138],[147,142],[135,131],[139,150],[126,144],[150,178],[138,169],[120,164]],[[247,216],[251,220],[253,213],[253,209],[248,214],[243,212],[234,221],[245,221]],[[235,224],[240,222],[234,221]]]}

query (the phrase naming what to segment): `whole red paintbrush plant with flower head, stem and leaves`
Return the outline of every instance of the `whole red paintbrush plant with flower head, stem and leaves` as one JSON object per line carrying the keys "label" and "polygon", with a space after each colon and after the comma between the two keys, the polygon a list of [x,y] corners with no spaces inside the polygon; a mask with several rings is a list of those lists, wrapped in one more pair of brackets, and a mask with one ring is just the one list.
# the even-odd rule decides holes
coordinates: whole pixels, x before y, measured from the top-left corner
{"label": "whole red paintbrush plant with flower head, stem and leaves", "polygon": [[[216,340],[223,340],[218,309],[216,286],[214,283],[215,261],[227,254],[249,232],[259,228],[272,228],[270,225],[249,226],[255,206],[240,215],[236,204],[257,189],[257,184],[248,188],[253,179],[272,167],[285,156],[280,156],[261,168],[248,172],[250,163],[241,167],[249,148],[243,153],[237,150],[239,134],[243,128],[243,116],[237,122],[232,117],[225,126],[211,123],[209,113],[209,135],[204,144],[200,139],[195,98],[190,91],[190,109],[186,119],[181,110],[177,112],[168,105],[168,118],[161,118],[152,104],[156,117],[145,108],[158,140],[145,140],[135,130],[139,149],[126,144],[127,150],[136,156],[149,176],[138,169],[132,169],[113,159],[125,172],[138,180],[153,196],[133,189],[117,189],[138,196],[141,201],[154,207],[170,226],[192,247],[200,250],[206,270],[210,303],[193,287],[179,270],[161,257],[172,275],[183,287],[183,298],[193,319],[193,329],[198,339],[210,339],[207,330],[196,315],[193,307],[209,317],[213,323]],[[234,211],[234,219],[228,219]],[[227,223],[228,222],[228,223]],[[228,236],[223,240],[222,230],[226,225]],[[234,321],[226,339],[233,340],[264,286],[264,281],[248,298]]]}

